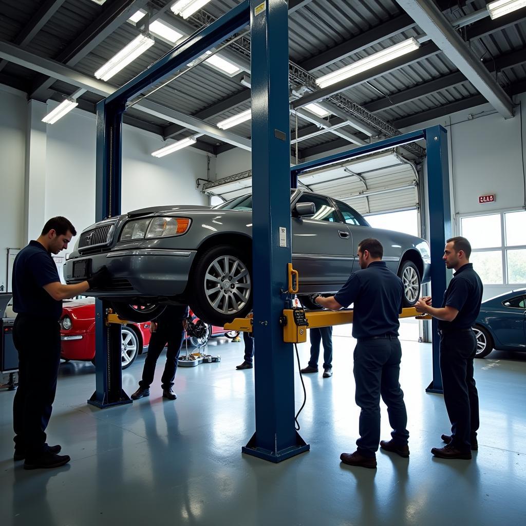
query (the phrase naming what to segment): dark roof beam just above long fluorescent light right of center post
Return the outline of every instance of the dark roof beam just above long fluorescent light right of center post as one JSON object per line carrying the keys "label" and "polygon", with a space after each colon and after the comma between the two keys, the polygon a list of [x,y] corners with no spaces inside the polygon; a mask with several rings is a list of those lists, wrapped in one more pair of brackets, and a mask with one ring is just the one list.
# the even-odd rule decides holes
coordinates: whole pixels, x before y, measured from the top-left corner
{"label": "dark roof beam just above long fluorescent light right of center post", "polygon": [[396,18],[382,22],[379,26],[369,29],[369,31],[353,36],[346,42],[327,49],[323,53],[304,60],[304,62],[300,63],[300,66],[307,71],[315,72],[322,67],[338,62],[342,58],[358,53],[362,49],[378,44],[386,38],[398,35],[402,31],[407,31],[416,25],[413,19],[404,13]]}

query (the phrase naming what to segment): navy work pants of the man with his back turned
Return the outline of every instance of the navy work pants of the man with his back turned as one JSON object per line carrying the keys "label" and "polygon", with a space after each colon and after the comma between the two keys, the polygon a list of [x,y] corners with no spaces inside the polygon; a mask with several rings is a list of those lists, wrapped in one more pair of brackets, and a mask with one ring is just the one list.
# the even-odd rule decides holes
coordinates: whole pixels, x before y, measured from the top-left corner
{"label": "navy work pants of the man with his back turned", "polygon": [[358,452],[374,457],[380,443],[380,396],[387,406],[391,437],[400,445],[407,444],[406,404],[400,388],[402,348],[398,338],[359,341],[354,352],[356,404],[360,407]]}

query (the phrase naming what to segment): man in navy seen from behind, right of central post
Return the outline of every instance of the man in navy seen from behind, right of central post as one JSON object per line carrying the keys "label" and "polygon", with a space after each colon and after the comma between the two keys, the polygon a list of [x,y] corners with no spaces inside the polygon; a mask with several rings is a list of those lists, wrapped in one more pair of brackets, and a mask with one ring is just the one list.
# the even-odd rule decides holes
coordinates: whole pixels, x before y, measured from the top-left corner
{"label": "man in navy seen from behind, right of central post", "polygon": [[[342,453],[340,460],[350,466],[376,468],[378,444],[386,451],[409,457],[406,404],[400,388],[402,349],[398,340],[402,312],[402,280],[382,261],[378,239],[364,239],[358,246],[361,270],[353,272],[346,284],[329,298],[313,298],[318,305],[339,310],[353,304],[353,373],[356,404],[361,408],[354,453]],[[380,395],[387,405],[391,440],[380,442]]]}

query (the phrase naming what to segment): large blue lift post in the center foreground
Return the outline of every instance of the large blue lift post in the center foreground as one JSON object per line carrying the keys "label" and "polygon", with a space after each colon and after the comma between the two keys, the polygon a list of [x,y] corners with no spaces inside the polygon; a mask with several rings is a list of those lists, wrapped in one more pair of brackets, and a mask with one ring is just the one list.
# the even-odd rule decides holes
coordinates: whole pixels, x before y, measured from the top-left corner
{"label": "large blue lift post in the center foreground", "polygon": [[250,17],[256,432],[242,451],[280,462],[309,449],[295,429],[294,348],[280,325],[292,261],[287,0],[251,0]]}

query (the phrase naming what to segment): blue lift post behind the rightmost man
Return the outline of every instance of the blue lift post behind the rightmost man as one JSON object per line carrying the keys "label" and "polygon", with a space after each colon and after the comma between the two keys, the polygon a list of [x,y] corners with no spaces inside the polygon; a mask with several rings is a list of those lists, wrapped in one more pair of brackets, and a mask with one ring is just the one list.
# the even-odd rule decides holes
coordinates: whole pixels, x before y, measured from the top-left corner
{"label": "blue lift post behind the rightmost man", "polygon": [[[448,286],[448,272],[442,261],[446,239],[451,237],[449,199],[448,136],[442,126],[426,130],[427,180],[429,206],[429,245],[431,248],[431,297],[436,307]],[[433,379],[427,392],[442,393],[438,322],[432,320]]]}

